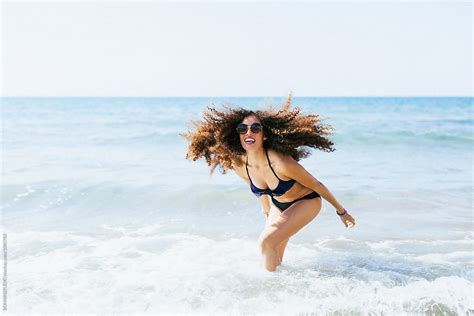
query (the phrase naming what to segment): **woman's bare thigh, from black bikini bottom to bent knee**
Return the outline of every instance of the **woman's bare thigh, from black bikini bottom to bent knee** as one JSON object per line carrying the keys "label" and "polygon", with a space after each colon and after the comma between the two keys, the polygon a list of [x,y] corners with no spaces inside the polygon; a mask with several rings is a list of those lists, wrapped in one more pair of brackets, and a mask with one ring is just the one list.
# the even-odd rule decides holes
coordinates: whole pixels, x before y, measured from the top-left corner
{"label": "woman's bare thigh, from black bikini bottom to bent knee", "polygon": [[260,240],[277,246],[311,222],[320,210],[320,198],[299,200],[283,213],[272,205],[267,225],[260,235]]}

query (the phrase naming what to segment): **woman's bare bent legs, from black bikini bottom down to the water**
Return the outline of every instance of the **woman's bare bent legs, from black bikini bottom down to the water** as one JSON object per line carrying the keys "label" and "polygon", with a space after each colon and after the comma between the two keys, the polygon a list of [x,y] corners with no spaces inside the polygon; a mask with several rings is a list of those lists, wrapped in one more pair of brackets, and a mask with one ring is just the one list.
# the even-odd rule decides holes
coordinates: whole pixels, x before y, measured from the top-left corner
{"label": "woman's bare bent legs, from black bikini bottom down to the water", "polygon": [[283,252],[278,251],[284,251],[285,241],[319,214],[321,199],[299,200],[278,216],[272,215],[273,208],[270,209],[267,226],[259,237],[263,265],[268,271],[275,271],[280,264]]}

